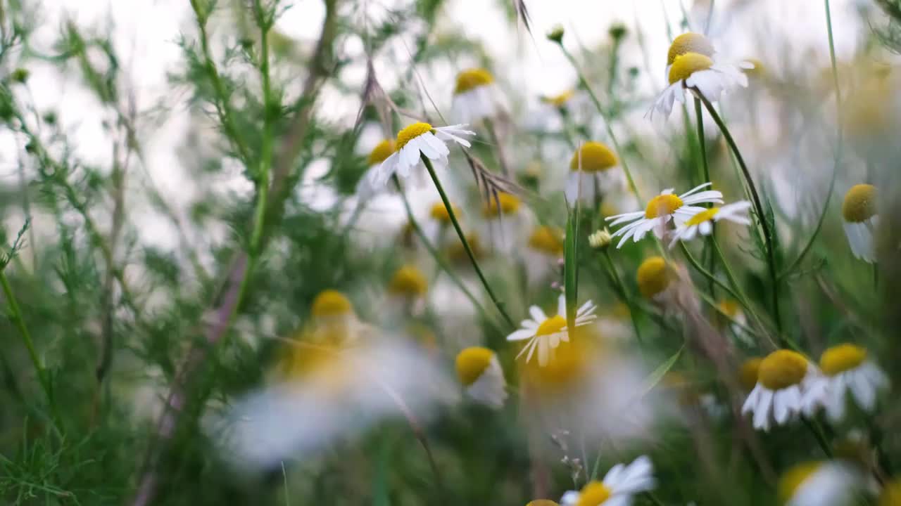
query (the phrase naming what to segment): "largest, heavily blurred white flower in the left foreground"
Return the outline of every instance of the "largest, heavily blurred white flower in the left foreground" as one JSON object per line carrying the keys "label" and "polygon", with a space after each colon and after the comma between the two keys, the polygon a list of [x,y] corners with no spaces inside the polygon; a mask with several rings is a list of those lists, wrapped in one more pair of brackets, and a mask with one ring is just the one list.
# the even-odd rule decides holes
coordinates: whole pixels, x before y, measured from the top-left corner
{"label": "largest, heavily blurred white flower in the left foreground", "polygon": [[283,381],[243,396],[216,425],[223,455],[241,468],[309,456],[381,420],[428,420],[454,397],[446,372],[397,339],[353,347],[298,342],[291,354]]}

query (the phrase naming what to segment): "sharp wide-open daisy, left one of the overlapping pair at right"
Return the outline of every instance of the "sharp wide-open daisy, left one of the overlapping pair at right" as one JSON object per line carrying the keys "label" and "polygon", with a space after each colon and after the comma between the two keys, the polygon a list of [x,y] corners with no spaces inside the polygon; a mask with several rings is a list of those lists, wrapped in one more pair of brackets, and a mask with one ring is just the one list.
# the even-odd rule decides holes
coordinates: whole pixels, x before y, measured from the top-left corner
{"label": "sharp wide-open daisy, left one of the overlapping pair at right", "polygon": [[625,212],[607,218],[607,221],[611,221],[611,227],[629,221],[629,224],[614,232],[614,237],[623,236],[616,248],[622,248],[629,238],[634,242],[644,239],[645,234],[651,230],[654,235],[663,239],[666,225],[670,220],[674,221],[678,228],[696,213],[706,211],[706,208],[695,205],[697,203],[723,203],[722,193],[716,190],[700,191],[709,185],[711,184],[705,183],[696,186],[681,195],[673,194],[673,189],[667,188],[652,198],[644,211]]}

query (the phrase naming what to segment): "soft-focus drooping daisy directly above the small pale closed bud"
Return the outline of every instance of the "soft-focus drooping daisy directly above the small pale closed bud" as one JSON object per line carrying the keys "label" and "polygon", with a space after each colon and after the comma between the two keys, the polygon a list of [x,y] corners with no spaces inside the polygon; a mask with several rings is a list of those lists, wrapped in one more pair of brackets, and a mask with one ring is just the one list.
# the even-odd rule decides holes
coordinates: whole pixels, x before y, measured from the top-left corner
{"label": "soft-focus drooping daisy directly above the small pale closed bud", "polygon": [[586,142],[569,161],[566,198],[575,203],[595,201],[596,194],[606,194],[623,187],[625,176],[614,152],[601,142]]}

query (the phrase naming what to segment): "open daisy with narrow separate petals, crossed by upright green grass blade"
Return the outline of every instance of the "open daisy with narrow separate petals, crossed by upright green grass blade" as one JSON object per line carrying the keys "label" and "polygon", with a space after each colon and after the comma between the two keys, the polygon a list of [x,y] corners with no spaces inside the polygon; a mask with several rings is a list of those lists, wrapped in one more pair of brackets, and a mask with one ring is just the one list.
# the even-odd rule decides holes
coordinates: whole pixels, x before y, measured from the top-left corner
{"label": "open daisy with narrow separate petals, crossed by upright green grass blade", "polygon": [[[597,306],[591,301],[582,304],[576,312],[576,326],[587,325],[587,323],[594,321],[596,308]],[[532,316],[532,319],[523,320],[523,328],[507,336],[507,340],[520,341],[529,339],[525,343],[523,351],[516,357],[519,358],[528,351],[528,355],[525,357],[525,361],[528,362],[532,360],[535,349],[538,349],[538,363],[540,366],[545,366],[553,349],[560,346],[560,341],[569,341],[569,329],[566,326],[566,296],[560,294],[560,298],[557,300],[557,313],[552,316],[544,314],[542,308],[538,306],[530,307],[529,314]]]}

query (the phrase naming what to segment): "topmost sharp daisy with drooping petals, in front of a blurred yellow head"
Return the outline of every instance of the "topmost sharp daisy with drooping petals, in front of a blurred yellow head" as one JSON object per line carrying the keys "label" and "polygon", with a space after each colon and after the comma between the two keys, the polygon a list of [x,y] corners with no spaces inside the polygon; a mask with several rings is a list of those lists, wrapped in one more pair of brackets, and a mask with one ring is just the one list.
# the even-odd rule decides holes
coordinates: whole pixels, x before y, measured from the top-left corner
{"label": "topmost sharp daisy with drooping petals, in front of a blurred yellow head", "polygon": [[685,104],[686,91],[716,102],[726,91],[737,86],[748,87],[748,76],[742,71],[746,68],[753,68],[753,65],[748,62],[738,65],[717,62],[696,52],[680,54],[673,59],[667,71],[669,86],[657,96],[649,115],[658,111],[669,117],[675,102]]}

